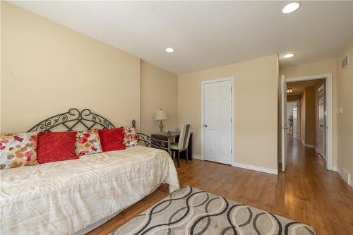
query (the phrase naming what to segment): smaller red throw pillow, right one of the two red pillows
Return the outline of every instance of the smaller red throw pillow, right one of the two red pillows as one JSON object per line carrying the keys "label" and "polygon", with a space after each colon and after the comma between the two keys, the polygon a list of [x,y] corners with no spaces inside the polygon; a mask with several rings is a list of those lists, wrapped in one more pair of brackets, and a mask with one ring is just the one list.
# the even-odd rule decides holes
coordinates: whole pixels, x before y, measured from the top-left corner
{"label": "smaller red throw pillow, right one of the two red pillows", "polygon": [[113,150],[124,150],[124,126],[114,129],[102,129],[100,133],[100,144],[103,152]]}

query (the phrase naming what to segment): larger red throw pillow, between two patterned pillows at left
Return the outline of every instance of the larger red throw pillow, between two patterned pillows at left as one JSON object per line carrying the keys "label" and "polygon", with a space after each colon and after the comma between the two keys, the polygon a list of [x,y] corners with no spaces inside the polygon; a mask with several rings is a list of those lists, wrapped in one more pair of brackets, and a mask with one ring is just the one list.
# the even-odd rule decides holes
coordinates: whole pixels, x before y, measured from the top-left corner
{"label": "larger red throw pillow, between two patterned pillows at left", "polygon": [[76,131],[40,132],[37,140],[37,162],[78,159],[75,152]]}

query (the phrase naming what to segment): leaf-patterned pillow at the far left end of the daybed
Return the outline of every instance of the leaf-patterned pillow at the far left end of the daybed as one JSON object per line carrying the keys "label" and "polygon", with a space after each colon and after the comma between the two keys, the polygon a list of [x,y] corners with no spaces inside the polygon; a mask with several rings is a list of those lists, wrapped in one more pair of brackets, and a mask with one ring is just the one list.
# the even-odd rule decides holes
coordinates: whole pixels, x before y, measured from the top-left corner
{"label": "leaf-patterned pillow at the far left end of the daybed", "polygon": [[1,135],[0,169],[38,164],[37,135],[37,132]]}

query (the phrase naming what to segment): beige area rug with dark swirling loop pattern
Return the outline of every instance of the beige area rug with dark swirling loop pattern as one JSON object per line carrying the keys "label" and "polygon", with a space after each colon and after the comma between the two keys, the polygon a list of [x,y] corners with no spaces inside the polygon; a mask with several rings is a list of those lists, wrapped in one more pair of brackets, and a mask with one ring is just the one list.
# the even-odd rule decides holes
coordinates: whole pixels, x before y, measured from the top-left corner
{"label": "beige area rug with dark swirling loop pattern", "polygon": [[182,187],[112,234],[315,234],[313,227],[190,186]]}

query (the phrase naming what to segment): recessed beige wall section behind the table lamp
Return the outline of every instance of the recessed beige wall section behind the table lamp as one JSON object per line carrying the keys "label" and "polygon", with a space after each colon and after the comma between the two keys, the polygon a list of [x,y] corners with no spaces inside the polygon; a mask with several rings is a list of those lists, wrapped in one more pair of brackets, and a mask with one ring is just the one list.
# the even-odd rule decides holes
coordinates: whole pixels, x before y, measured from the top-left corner
{"label": "recessed beige wall section behind the table lamp", "polygon": [[159,121],[155,121],[155,112],[161,108],[168,114],[168,120],[163,121],[164,131],[174,131],[177,128],[177,75],[141,61],[140,98],[140,131],[148,134],[159,131]]}

